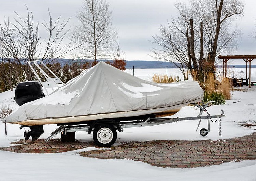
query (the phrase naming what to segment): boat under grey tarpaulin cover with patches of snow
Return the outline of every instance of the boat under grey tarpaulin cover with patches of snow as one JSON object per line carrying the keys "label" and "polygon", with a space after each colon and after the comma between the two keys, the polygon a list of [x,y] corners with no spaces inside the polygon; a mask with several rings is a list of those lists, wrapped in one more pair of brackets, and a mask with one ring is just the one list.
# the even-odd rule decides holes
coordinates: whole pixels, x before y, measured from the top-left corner
{"label": "boat under grey tarpaulin cover with patches of snow", "polygon": [[148,114],[162,116],[201,101],[203,94],[195,81],[153,83],[101,61],[48,96],[20,106],[2,122],[42,125]]}

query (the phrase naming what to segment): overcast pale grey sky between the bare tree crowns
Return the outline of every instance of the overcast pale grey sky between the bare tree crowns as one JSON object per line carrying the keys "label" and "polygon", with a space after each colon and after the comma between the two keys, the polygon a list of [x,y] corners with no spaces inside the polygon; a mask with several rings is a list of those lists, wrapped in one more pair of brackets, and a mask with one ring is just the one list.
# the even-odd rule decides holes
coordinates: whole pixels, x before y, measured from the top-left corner
{"label": "overcast pale grey sky between the bare tree crowns", "polygon": [[[148,54],[154,46],[150,40],[151,35],[158,34],[159,26],[166,25],[167,20],[177,15],[174,7],[176,0],[107,0],[113,18],[113,26],[118,30],[119,45],[125,52],[126,60],[153,60]],[[181,0],[188,2],[188,0]],[[79,23],[75,14],[81,10],[83,0],[0,0],[0,22],[9,17],[12,21],[16,17],[15,12],[26,16],[26,7],[32,11],[34,20],[42,22],[48,19],[48,8],[53,19],[59,15],[63,19],[71,17],[69,27]],[[244,16],[236,21],[242,30],[241,42],[238,48],[230,54],[256,54],[256,41],[249,38],[249,34],[255,26],[256,2],[244,1]],[[44,36],[43,26],[39,33]],[[40,58],[40,57],[39,57]]]}

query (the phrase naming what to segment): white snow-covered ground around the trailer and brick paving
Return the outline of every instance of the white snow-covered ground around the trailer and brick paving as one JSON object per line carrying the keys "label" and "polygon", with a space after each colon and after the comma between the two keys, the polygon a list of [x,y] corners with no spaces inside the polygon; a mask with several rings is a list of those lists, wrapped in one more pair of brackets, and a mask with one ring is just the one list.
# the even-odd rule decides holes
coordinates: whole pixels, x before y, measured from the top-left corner
{"label": "white snow-covered ground around the trailer and brick paving", "polygon": [[[246,87],[243,87],[245,89]],[[211,123],[211,132],[201,137],[196,132],[198,121],[180,121],[163,125],[126,128],[117,133],[117,141],[147,140],[203,140],[228,139],[251,134],[254,128],[244,128],[240,122],[256,122],[256,86],[246,92],[232,92],[232,100],[226,105],[210,106],[210,114],[220,114],[222,118],[222,137],[218,136],[218,122]],[[9,105],[17,108],[14,91],[0,93],[0,106]],[[198,109],[185,106],[173,117],[196,116]],[[44,125],[46,138],[57,128],[57,125]],[[200,128],[207,128],[203,120]],[[23,130],[19,125],[7,125],[8,136],[5,137],[4,124],[0,123],[0,147],[9,146],[10,142],[23,139]],[[58,135],[60,136],[60,135]],[[57,138],[57,137],[56,137]],[[76,138],[81,141],[93,141],[92,135],[77,132]],[[147,163],[124,159],[96,159],[79,156],[80,151],[54,154],[25,154],[0,151],[0,181],[5,180],[256,180],[256,160],[224,163],[209,167],[192,169],[159,168]]]}

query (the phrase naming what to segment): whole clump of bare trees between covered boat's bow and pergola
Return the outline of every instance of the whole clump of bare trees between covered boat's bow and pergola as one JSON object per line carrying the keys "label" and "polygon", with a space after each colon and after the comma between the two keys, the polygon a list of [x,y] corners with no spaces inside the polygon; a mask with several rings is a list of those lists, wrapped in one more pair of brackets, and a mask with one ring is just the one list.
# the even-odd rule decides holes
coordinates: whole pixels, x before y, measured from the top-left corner
{"label": "whole clump of bare trees between covered boat's bow and pergola", "polygon": [[[178,2],[176,8],[177,18],[172,18],[166,27],[161,25],[160,35],[153,36],[157,44],[153,57],[174,62],[184,79],[187,78],[184,66],[190,71],[201,72],[205,70],[203,66],[208,66],[208,71],[214,70],[216,55],[236,47],[240,31],[232,22],[242,14],[243,3],[191,0],[190,6]],[[208,62],[203,61],[203,57],[207,57]]]}

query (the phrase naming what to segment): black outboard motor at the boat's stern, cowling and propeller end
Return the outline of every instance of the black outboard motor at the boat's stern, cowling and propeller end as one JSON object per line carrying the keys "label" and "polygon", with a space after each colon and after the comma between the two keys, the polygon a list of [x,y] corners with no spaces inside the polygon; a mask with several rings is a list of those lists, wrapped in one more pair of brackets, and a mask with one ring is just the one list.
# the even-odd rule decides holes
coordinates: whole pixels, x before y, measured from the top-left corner
{"label": "black outboard motor at the boat's stern, cowling and propeller end", "polygon": [[[14,100],[16,103],[21,106],[27,102],[34,101],[44,97],[43,89],[38,81],[26,81],[18,83],[15,90]],[[31,131],[24,132],[25,140],[28,140],[29,137],[32,137],[32,141],[35,141],[44,133],[43,125],[36,126],[24,126],[21,128],[29,127]]]}

